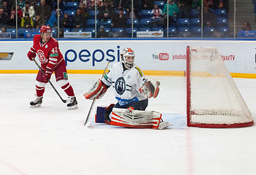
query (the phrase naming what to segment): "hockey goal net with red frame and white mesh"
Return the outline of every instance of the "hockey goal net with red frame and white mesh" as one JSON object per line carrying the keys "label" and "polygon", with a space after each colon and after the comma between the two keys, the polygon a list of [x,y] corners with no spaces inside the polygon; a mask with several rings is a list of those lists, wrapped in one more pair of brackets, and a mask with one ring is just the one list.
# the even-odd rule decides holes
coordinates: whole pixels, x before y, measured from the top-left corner
{"label": "hockey goal net with red frame and white mesh", "polygon": [[233,78],[214,47],[187,47],[187,126],[254,125]]}

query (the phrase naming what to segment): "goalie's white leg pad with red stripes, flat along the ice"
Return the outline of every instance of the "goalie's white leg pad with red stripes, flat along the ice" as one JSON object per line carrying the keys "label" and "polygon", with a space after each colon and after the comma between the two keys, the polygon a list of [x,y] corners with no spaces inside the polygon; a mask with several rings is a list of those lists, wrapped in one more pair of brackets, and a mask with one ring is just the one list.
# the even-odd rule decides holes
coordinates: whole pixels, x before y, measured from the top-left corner
{"label": "goalie's white leg pad with red stripes, flat along the ice", "polygon": [[158,129],[162,114],[154,111],[113,108],[111,125]]}

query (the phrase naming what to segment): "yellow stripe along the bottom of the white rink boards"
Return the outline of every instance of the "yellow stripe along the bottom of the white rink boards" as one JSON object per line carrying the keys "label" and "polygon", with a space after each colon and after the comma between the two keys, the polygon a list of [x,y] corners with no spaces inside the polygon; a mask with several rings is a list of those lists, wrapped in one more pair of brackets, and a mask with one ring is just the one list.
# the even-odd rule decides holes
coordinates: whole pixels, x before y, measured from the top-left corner
{"label": "yellow stripe along the bottom of the white rink boards", "polygon": [[[37,74],[39,70],[0,70],[0,74]],[[68,74],[103,74],[104,70],[67,70]],[[145,75],[186,76],[186,71],[143,71]],[[234,78],[256,79],[256,74],[230,73]]]}

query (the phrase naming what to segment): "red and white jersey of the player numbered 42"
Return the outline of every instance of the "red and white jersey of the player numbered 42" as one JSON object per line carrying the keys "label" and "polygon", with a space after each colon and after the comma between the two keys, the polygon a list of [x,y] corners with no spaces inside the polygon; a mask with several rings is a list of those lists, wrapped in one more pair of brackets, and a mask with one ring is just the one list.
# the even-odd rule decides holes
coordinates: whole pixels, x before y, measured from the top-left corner
{"label": "red and white jersey of the player numbered 42", "polygon": [[63,55],[58,48],[57,39],[50,37],[48,42],[42,44],[41,36],[34,36],[34,44],[31,52],[36,52],[43,70],[54,69],[63,60]]}

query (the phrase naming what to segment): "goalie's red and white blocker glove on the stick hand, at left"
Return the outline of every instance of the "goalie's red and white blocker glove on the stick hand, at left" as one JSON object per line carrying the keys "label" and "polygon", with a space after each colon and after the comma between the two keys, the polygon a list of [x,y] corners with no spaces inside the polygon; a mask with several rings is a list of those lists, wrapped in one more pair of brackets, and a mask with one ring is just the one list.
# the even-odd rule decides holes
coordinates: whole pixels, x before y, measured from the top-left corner
{"label": "goalie's red and white blocker glove on the stick hand, at left", "polygon": [[94,100],[100,99],[106,93],[106,85],[101,82],[101,79],[98,79],[98,82],[93,85],[88,92],[84,94],[86,99]]}

